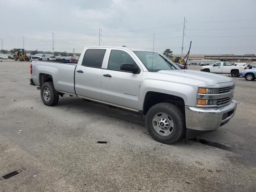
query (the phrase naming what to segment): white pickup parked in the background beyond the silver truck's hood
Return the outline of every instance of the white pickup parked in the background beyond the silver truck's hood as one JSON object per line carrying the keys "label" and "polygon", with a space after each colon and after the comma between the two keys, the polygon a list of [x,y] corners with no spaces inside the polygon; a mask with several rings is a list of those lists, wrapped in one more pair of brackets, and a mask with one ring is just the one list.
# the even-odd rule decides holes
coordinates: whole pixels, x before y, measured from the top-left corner
{"label": "white pickup parked in the background beyond the silver truck's hood", "polygon": [[216,62],[212,65],[202,66],[201,71],[211,73],[225,73],[231,74],[232,77],[239,77],[243,70],[246,70],[246,66],[230,66],[226,62]]}

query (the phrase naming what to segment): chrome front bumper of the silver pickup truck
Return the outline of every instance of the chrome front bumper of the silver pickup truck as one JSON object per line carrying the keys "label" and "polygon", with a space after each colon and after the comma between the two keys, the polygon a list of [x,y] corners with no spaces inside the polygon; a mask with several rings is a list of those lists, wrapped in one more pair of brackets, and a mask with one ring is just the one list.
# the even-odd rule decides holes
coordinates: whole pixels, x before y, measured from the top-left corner
{"label": "chrome front bumper of the silver pickup truck", "polygon": [[236,112],[237,102],[221,108],[196,108],[185,106],[186,128],[198,131],[214,131],[226,124]]}

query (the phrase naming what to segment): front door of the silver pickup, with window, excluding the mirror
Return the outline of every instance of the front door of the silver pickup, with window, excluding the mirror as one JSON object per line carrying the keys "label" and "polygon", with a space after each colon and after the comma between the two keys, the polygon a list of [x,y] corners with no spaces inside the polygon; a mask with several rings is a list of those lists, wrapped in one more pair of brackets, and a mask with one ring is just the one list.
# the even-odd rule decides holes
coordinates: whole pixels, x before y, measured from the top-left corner
{"label": "front door of the silver pickup, with window, excluding the mirror", "polygon": [[[121,64],[134,64],[137,74],[123,71]],[[131,52],[122,48],[110,48],[102,73],[102,100],[132,109],[138,109],[142,67]]]}

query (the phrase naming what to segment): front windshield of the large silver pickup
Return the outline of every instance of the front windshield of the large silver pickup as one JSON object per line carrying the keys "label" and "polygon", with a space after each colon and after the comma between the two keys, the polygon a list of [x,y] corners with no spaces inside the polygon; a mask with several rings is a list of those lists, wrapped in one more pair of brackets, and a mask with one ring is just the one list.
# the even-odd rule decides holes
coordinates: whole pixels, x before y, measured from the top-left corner
{"label": "front windshield of the large silver pickup", "polygon": [[180,69],[170,59],[159,53],[148,51],[134,51],[144,66],[150,72],[158,72],[160,70],[176,70]]}

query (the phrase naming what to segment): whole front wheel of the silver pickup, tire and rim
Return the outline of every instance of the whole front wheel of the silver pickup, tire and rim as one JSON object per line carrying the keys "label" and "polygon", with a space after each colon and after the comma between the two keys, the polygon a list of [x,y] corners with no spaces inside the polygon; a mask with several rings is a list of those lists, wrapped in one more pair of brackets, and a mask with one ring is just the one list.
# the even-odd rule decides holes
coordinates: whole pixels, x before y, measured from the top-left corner
{"label": "whole front wheel of the silver pickup, tire and rim", "polygon": [[146,126],[155,140],[172,144],[185,134],[185,118],[182,110],[171,103],[152,106],[146,114]]}

